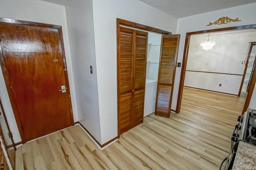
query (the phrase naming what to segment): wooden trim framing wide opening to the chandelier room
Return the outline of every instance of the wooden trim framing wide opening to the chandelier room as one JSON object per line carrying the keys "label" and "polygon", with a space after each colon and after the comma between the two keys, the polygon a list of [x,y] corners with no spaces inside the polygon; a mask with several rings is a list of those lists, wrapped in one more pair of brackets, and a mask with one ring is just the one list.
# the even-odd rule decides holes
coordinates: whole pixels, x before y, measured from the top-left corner
{"label": "wooden trim framing wide opening to the chandelier room", "polygon": [[[194,34],[200,34],[200,33],[212,33],[212,32],[232,31],[232,30],[242,30],[242,29],[256,29],[256,24],[242,25],[242,26],[236,26],[236,27],[225,27],[225,28],[218,28],[218,29],[208,29],[208,30],[203,30],[203,31],[194,31],[194,32],[186,33],[183,59],[182,59],[182,67],[181,67],[181,74],[180,74],[180,85],[179,85],[177,105],[176,105],[176,113],[180,112],[183,86],[184,86],[185,73],[186,73],[186,65],[187,65],[187,60],[188,60],[188,49],[189,49],[189,43],[190,43],[190,36],[194,35]],[[249,106],[250,100],[252,98],[252,92],[253,92],[253,89],[254,89],[255,82],[256,82],[256,72],[254,72],[252,74],[252,82],[249,85],[249,90],[248,90],[248,94],[247,94],[247,97],[246,97],[246,101],[245,101],[244,109],[243,109],[242,113],[244,113],[244,111],[246,111],[247,107]]]}

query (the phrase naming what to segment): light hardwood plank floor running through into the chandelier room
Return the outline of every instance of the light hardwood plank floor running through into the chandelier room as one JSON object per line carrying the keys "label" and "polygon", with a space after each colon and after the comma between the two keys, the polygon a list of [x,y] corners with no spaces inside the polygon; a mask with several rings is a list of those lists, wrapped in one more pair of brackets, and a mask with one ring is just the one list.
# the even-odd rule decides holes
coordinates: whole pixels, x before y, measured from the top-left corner
{"label": "light hardwood plank floor running through into the chandelier room", "polygon": [[218,170],[245,97],[184,88],[179,114],[153,114],[98,149],[76,125],[18,147],[16,170]]}

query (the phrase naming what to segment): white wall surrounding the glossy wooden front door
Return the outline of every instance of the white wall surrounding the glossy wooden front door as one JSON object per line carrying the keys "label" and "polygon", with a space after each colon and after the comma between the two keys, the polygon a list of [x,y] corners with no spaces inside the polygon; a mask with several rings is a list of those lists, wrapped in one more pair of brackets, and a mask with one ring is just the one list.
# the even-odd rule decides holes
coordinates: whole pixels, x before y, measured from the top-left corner
{"label": "white wall surrounding the glossy wooden front door", "polygon": [[[68,41],[68,29],[64,6],[39,0],[2,0],[0,5],[0,17],[62,25],[74,121],[78,121],[73,71]],[[0,96],[8,123],[10,125],[10,130],[13,133],[14,142],[20,142],[21,138],[4,83],[2,70],[0,71]]]}

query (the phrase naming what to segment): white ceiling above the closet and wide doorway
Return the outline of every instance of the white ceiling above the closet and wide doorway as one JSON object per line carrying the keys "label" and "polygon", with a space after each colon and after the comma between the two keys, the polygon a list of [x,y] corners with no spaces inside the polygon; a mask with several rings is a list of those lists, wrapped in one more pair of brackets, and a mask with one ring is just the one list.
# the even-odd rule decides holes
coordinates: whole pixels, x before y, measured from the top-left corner
{"label": "white ceiling above the closet and wide doorway", "polygon": [[140,0],[175,18],[251,4],[256,0]]}

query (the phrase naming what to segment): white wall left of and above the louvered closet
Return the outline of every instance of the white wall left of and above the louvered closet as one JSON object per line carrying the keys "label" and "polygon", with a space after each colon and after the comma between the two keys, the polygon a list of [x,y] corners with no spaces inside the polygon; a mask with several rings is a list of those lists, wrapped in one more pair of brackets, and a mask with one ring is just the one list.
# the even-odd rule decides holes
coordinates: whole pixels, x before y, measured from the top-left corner
{"label": "white wall left of and above the louvered closet", "polygon": [[176,18],[139,0],[93,0],[101,143],[117,136],[116,18],[176,32]]}

